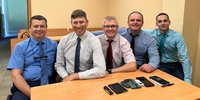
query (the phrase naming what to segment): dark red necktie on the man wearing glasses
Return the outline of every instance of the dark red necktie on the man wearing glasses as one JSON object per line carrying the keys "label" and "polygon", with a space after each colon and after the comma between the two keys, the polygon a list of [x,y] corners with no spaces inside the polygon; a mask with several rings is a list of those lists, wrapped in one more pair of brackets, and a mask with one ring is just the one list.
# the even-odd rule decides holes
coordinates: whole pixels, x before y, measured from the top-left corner
{"label": "dark red necktie on the man wearing glasses", "polygon": [[107,48],[107,58],[106,58],[106,69],[112,69],[113,64],[112,64],[112,46],[111,43],[113,40],[108,40],[109,46]]}

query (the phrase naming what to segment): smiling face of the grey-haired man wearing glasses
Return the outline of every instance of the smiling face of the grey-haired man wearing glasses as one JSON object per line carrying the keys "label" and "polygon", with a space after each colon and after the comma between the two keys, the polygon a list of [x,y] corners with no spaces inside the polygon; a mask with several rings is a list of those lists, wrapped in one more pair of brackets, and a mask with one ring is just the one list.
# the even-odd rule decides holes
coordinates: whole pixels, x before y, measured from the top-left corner
{"label": "smiling face of the grey-haired man wearing glasses", "polygon": [[113,39],[117,34],[118,24],[116,20],[104,21],[103,30],[108,39]]}

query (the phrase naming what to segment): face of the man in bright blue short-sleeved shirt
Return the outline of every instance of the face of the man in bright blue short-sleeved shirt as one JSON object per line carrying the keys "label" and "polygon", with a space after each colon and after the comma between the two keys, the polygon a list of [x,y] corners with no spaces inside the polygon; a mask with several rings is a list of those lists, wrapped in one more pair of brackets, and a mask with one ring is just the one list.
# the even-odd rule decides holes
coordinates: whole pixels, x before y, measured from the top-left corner
{"label": "face of the man in bright blue short-sleeved shirt", "polygon": [[42,40],[47,32],[47,24],[45,20],[32,20],[30,32],[36,40]]}

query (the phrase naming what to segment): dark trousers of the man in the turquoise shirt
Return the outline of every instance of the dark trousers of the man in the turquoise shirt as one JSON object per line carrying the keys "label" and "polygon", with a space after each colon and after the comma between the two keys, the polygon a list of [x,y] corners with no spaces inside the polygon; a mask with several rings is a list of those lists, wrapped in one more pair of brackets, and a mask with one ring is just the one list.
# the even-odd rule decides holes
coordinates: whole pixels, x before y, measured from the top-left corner
{"label": "dark trousers of the man in the turquoise shirt", "polygon": [[180,62],[160,63],[160,66],[158,69],[170,75],[173,75],[181,80],[184,80],[183,67]]}

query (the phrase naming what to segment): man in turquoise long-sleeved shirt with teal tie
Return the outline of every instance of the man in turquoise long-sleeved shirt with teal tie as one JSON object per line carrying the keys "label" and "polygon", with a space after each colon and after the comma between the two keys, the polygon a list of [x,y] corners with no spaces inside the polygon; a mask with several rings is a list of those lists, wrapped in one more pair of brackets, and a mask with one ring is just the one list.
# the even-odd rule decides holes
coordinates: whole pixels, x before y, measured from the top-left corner
{"label": "man in turquoise long-sleeved shirt with teal tie", "polygon": [[183,37],[169,29],[170,19],[166,13],[156,16],[156,25],[158,29],[148,31],[155,37],[159,47],[159,69],[191,83],[192,66]]}

